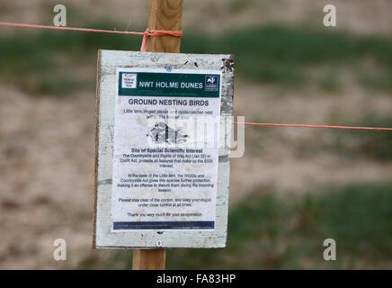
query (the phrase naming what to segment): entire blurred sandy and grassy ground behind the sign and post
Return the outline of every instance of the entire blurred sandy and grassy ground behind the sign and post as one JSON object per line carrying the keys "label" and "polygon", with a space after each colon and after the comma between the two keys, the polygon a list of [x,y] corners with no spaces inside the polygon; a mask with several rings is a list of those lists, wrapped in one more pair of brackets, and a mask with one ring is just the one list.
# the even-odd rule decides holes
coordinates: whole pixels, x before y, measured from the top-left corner
{"label": "entire blurred sandy and grassy ground behind the sign and post", "polygon": [[[329,2],[189,1],[182,52],[235,54],[235,112],[246,120],[392,127],[392,28],[382,14],[392,4],[363,2],[334,1],[338,27],[326,29]],[[116,16],[124,1],[97,3],[65,1],[68,25],[145,29],[141,1],[134,18]],[[25,22],[51,24],[54,4],[33,4]],[[0,19],[22,22],[25,8],[0,1]],[[367,9],[379,19],[353,16]],[[131,251],[91,250],[94,89],[97,49],[138,50],[140,42],[0,29],[0,204],[8,215],[0,231],[9,235],[0,267],[131,266]],[[227,248],[169,250],[167,268],[391,268],[391,147],[386,131],[246,128],[245,157],[232,159]],[[15,191],[26,201],[15,202]],[[32,243],[16,247],[24,229]],[[54,238],[70,243],[65,264],[51,260]],[[337,261],[324,261],[325,238],[336,240]]]}

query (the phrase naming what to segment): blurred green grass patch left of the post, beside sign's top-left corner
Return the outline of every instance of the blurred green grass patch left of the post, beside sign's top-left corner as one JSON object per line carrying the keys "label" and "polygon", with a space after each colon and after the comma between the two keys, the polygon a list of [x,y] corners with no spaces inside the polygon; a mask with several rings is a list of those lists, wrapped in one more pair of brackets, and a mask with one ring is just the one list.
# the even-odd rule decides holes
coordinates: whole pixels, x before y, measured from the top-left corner
{"label": "blurred green grass patch left of the post, beside sign's top-left corner", "polygon": [[[17,37],[0,38],[0,80],[33,95],[94,91],[97,49],[138,49],[138,40],[83,32],[23,31]],[[77,70],[86,67],[87,75],[79,76]]]}

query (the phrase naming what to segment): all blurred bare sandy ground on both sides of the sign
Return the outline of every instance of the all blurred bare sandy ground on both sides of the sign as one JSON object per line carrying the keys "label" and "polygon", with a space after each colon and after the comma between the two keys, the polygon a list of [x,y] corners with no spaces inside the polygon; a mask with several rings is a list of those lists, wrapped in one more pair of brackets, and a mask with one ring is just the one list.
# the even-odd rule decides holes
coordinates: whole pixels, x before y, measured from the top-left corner
{"label": "all blurred bare sandy ground on both sides of the sign", "polygon": [[[309,11],[321,11],[324,1],[245,1],[249,6],[233,13],[227,0],[186,0],[184,27],[210,31],[233,24],[305,21]],[[1,21],[42,23],[42,1],[0,0]],[[48,6],[48,1],[46,2]],[[102,11],[118,18],[132,30],[147,22],[147,1],[64,1],[81,7],[94,17]],[[391,1],[328,1],[338,5],[338,25],[359,32],[392,31]],[[124,9],[123,7],[129,7]],[[236,8],[237,7],[237,8]],[[218,10],[217,10],[218,9]],[[235,11],[236,12],[236,11]],[[347,14],[346,14],[347,13]],[[218,16],[213,16],[213,15]],[[46,16],[45,16],[46,15]],[[89,14],[90,16],[90,14]],[[69,15],[72,23],[72,16]],[[93,16],[92,16],[93,17]],[[316,17],[312,14],[312,17]],[[317,18],[318,19],[318,18]],[[320,18],[321,19],[321,18]],[[318,21],[318,20],[317,20]],[[321,21],[321,20],[320,20]],[[332,115],[351,119],[361,112],[388,115],[392,97],[370,94],[349,85],[336,94],[306,91],[277,94],[274,87],[252,85],[236,78],[236,115],[245,120],[268,120],[314,124],[331,123]],[[250,104],[252,103],[252,104]],[[92,252],[94,206],[94,91],[67,100],[33,97],[0,83],[0,269],[58,268],[79,266],[86,257],[105,257],[111,252]],[[343,123],[340,123],[343,124]],[[389,180],[392,164],[367,158],[347,160],[322,152],[298,156],[291,143],[317,138],[315,130],[256,130],[265,144],[252,148],[245,142],[245,156],[232,159],[230,204],[246,194],[274,186],[280,191],[301,192],[320,184]],[[246,133],[254,130],[246,128]],[[263,135],[265,134],[265,138]],[[279,137],[275,137],[279,135]],[[254,139],[250,138],[250,141]],[[247,146],[246,146],[247,145]],[[66,264],[53,260],[55,238],[67,240]]]}

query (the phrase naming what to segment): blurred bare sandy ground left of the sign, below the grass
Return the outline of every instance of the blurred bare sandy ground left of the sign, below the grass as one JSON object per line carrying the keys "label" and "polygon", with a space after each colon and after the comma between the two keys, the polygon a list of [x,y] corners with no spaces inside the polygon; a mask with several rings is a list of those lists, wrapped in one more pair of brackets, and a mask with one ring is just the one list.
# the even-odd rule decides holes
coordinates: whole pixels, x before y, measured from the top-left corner
{"label": "blurred bare sandy ground left of the sign, below the grass", "polygon": [[0,268],[49,267],[55,238],[91,247],[94,99],[0,95]]}

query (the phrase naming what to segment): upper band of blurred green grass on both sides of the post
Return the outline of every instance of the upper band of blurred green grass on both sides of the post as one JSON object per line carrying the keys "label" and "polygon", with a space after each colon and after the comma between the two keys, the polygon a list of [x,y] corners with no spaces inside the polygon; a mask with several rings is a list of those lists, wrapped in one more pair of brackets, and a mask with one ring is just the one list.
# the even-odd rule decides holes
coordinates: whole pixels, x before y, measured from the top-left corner
{"label": "upper band of blurred green grass on both sides of the post", "polygon": [[[88,26],[112,30],[114,25],[108,22]],[[70,95],[83,88],[90,91],[95,85],[97,49],[138,50],[140,42],[141,37],[128,35],[19,30],[13,36],[0,36],[0,81],[21,86],[30,94]],[[391,50],[392,40],[383,37],[279,25],[214,37],[201,31],[185,31],[182,40],[183,52],[235,54],[237,75],[254,82],[289,88],[314,83],[332,91],[340,86],[335,75],[341,67],[351,68],[361,85],[392,90]],[[80,79],[75,70],[84,67],[91,70]],[[321,76],[311,72],[325,67]]]}

